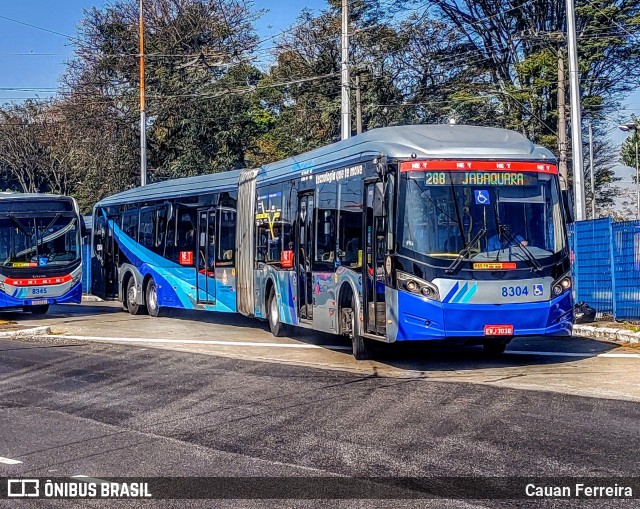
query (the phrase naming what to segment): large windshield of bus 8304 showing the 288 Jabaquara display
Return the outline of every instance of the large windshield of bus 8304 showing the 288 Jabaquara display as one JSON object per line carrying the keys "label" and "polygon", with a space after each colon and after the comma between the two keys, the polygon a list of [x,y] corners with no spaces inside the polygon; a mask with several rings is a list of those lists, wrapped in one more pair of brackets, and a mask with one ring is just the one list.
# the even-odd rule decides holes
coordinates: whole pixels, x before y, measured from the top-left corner
{"label": "large windshield of bus 8304 showing the 288 Jabaquara display", "polygon": [[566,244],[554,174],[410,171],[400,192],[401,245],[422,256],[538,266]]}

